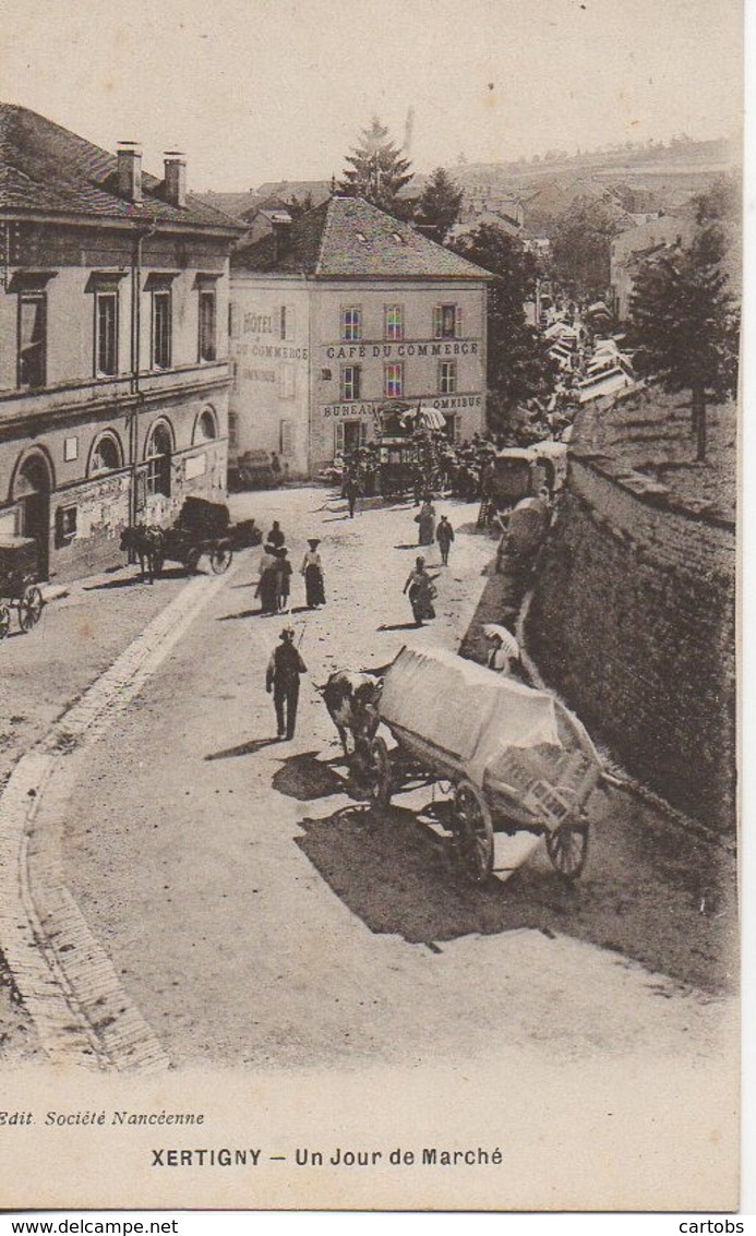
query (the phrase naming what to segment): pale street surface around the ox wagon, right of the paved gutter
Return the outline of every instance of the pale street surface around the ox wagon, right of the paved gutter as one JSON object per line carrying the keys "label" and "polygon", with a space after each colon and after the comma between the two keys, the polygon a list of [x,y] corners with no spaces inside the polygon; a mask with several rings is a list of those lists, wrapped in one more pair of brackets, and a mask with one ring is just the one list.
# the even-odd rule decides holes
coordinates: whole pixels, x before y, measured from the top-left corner
{"label": "pale street surface around the ox wagon, right of the paved gutter", "polygon": [[[439,620],[416,632],[400,595],[411,508],[348,520],[311,489],[237,506],[259,518],[275,507],[295,567],[306,536],[324,539],[329,603],[301,613],[294,598],[311,679],[295,740],[273,742],[263,677],[280,623],[256,616],[251,552],[82,759],[65,818],[67,883],[169,1058],[415,1063],[494,1042],[560,1060],[716,1057],[731,1030],[718,920],[683,878],[687,843],[624,796],[597,796],[608,822],[584,886],[567,892],[540,852],[508,884],[463,887],[415,822],[418,801],[377,818],[347,794],[313,684],[334,665],[385,664],[403,641],[457,646],[490,555],[473,508],[448,504],[462,531]],[[636,861],[624,880],[618,832],[623,860]],[[700,869],[720,864],[704,849]],[[677,887],[657,905],[644,878],[661,871],[667,889],[665,868]],[[651,943],[635,939],[644,932]],[[697,983],[702,948],[712,957]],[[646,968],[639,954],[658,960]]]}

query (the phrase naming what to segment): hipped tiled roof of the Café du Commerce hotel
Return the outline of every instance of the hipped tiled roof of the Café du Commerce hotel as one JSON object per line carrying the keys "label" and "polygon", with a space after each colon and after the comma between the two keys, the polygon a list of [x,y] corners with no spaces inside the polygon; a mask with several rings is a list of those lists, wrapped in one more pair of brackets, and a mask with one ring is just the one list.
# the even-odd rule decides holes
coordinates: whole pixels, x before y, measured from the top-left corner
{"label": "hipped tiled roof of the Caf\u00e9 du Commerce hotel", "polygon": [[231,261],[237,269],[316,279],[492,277],[362,198],[330,198],[296,219],[285,237],[242,242]]}

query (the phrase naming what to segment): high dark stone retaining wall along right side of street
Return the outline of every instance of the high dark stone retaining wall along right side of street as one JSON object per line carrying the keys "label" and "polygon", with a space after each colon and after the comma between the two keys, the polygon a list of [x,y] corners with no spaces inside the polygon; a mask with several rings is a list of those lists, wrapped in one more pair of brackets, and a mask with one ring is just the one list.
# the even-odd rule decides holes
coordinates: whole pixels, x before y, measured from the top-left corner
{"label": "high dark stone retaining wall along right side of street", "polygon": [[545,676],[628,770],[735,828],[735,528],[571,447],[527,618]]}

